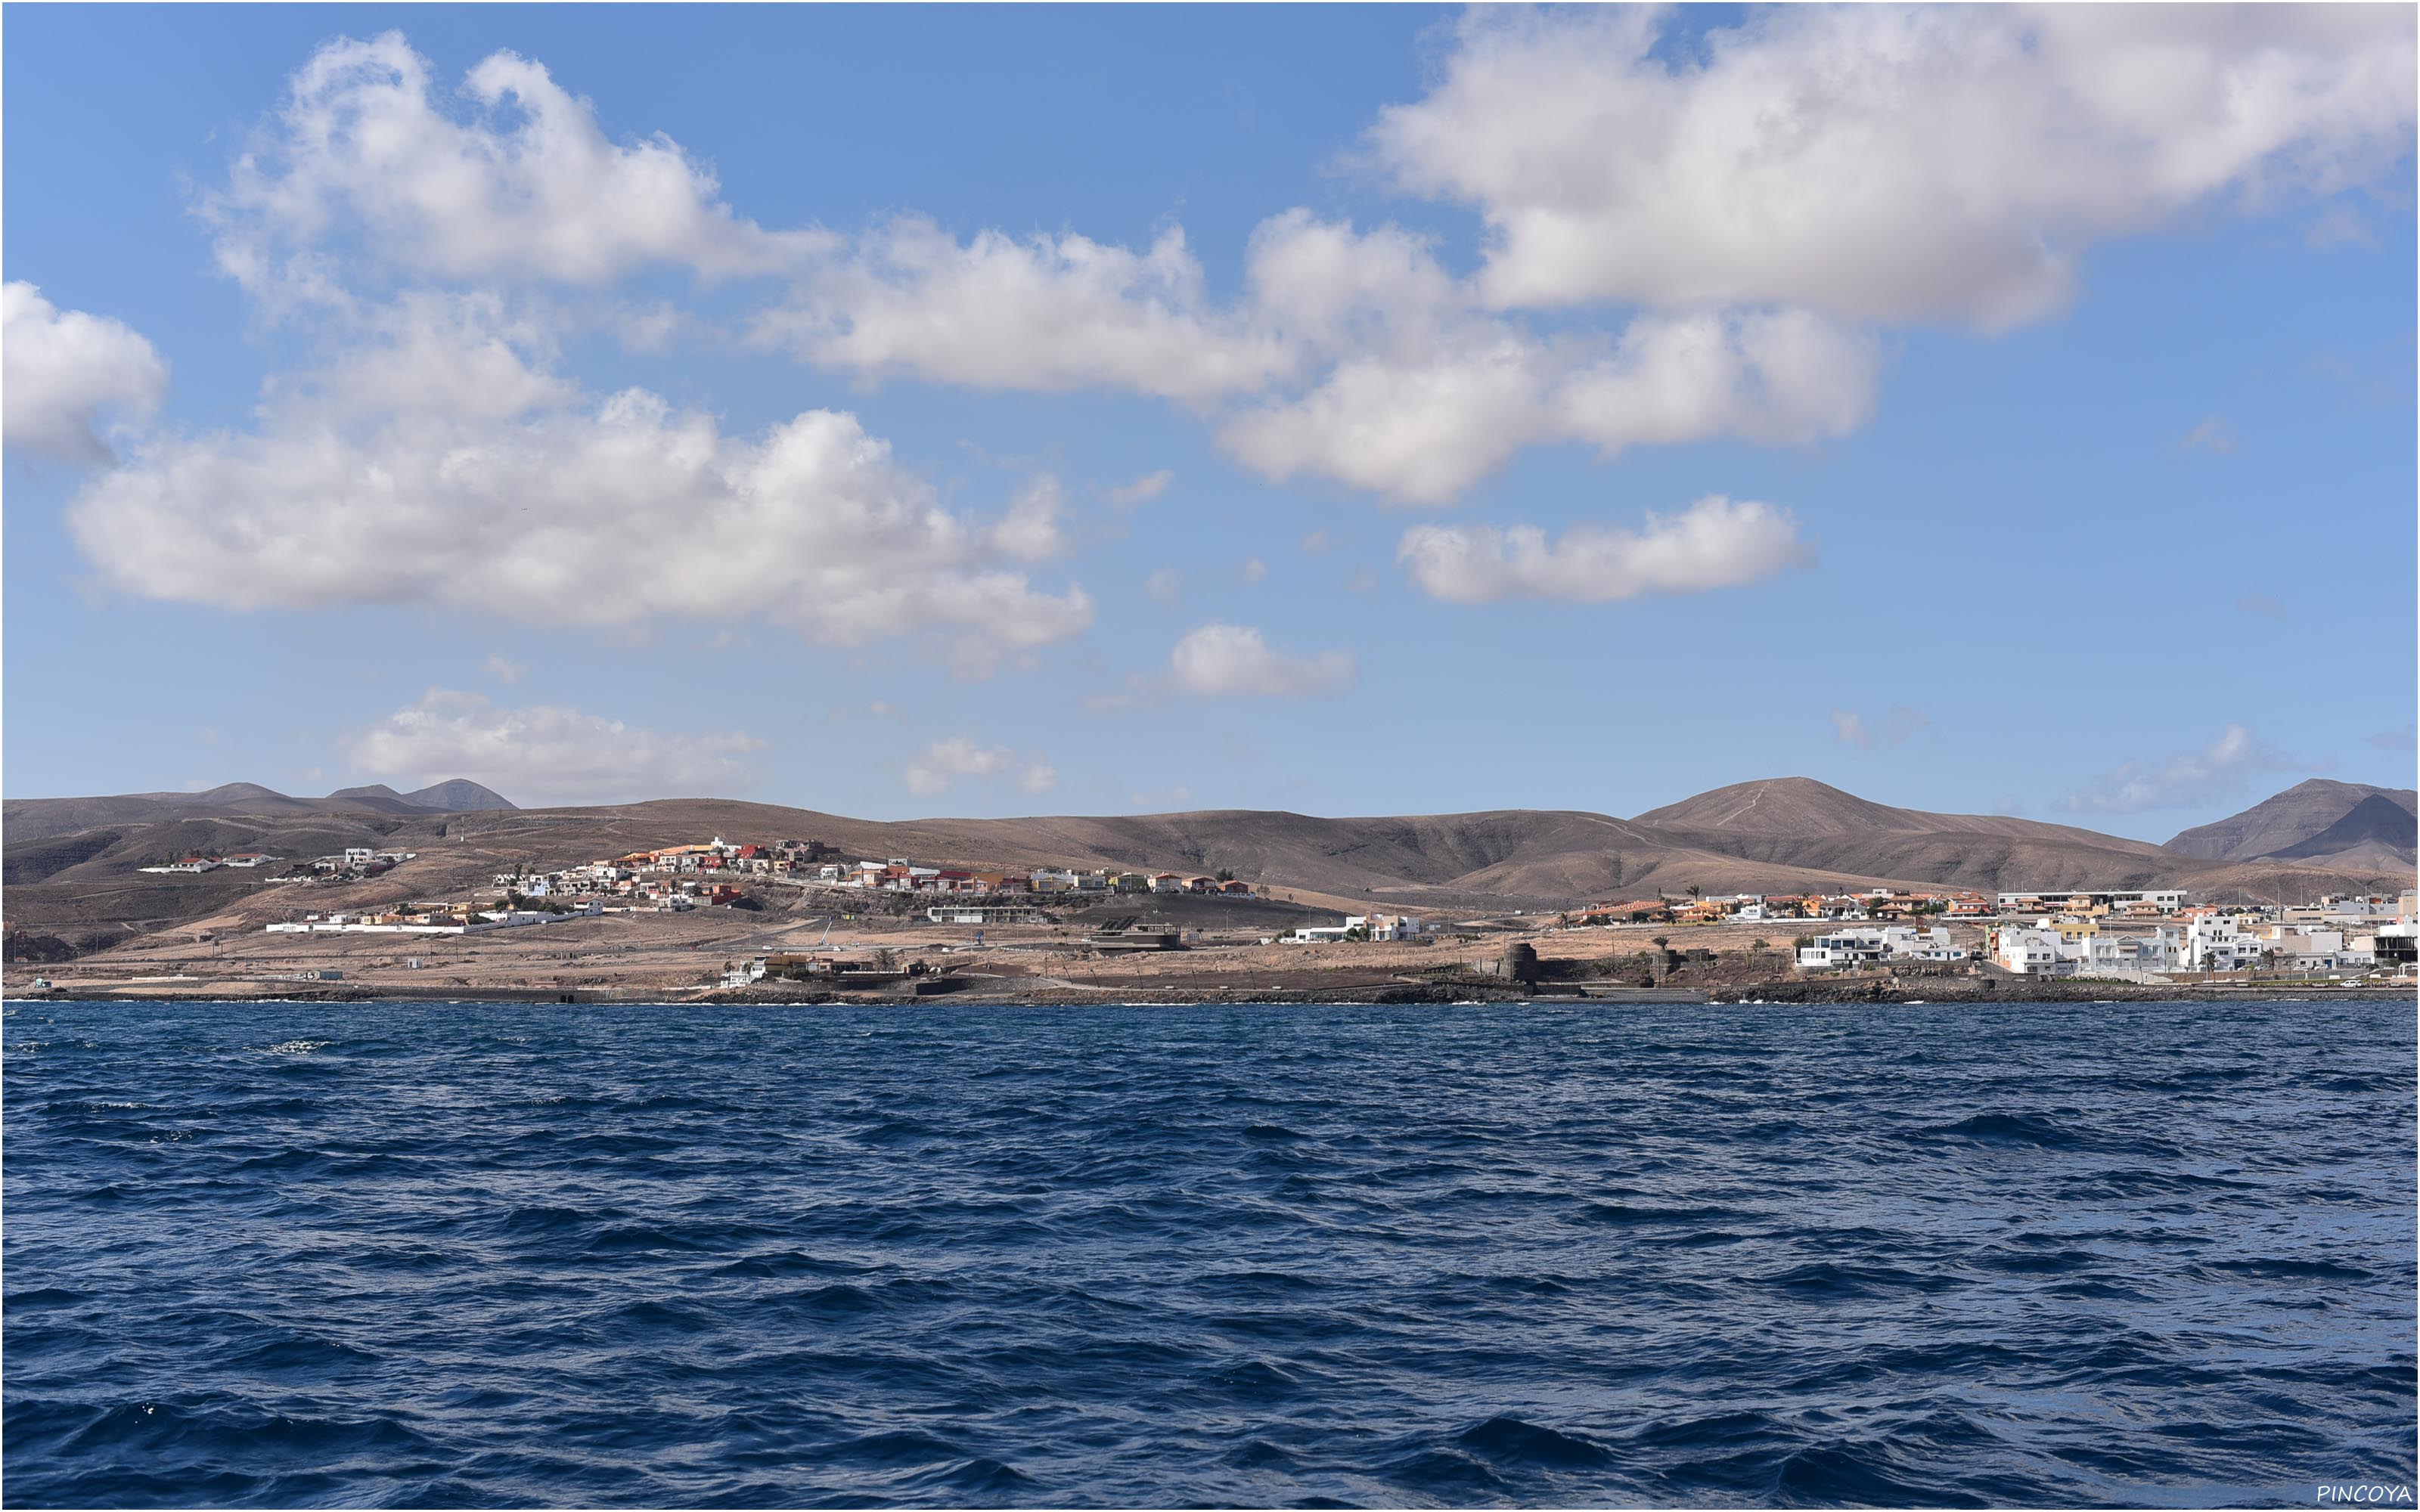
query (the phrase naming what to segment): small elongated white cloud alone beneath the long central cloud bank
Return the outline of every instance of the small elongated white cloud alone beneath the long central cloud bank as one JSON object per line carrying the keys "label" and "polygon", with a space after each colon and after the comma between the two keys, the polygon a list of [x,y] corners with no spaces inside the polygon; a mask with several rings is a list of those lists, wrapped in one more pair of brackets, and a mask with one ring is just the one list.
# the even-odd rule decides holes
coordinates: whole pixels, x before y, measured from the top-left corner
{"label": "small elongated white cloud alone beneath the long central cloud bank", "polygon": [[1643,593],[1706,593],[1805,566],[1798,520],[1769,503],[1699,498],[1641,530],[1573,525],[1546,539],[1537,525],[1413,525],[1396,561],[1430,598],[1481,605],[1503,598],[1614,602]]}

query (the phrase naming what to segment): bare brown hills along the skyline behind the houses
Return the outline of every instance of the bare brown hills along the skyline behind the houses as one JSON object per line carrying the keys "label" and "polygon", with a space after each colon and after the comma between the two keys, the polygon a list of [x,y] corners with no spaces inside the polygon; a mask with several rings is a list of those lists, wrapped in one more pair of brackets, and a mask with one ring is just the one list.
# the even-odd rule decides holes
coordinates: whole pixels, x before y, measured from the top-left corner
{"label": "bare brown hills along the skyline behind the houses", "polygon": [[[455,784],[421,793],[353,789],[329,798],[288,798],[237,784],[213,793],[12,801],[5,849],[10,922],[155,929],[254,895],[261,907],[286,900],[276,888],[264,890],[269,878],[257,873],[136,873],[167,854],[261,849],[307,859],[346,844],[411,849],[419,861],[394,873],[392,883],[411,895],[443,898],[491,885],[499,868],[552,868],[709,835],[823,839],[849,856],[975,868],[1234,871],[1278,893],[1445,910],[1558,910],[1687,888],[1803,893],[1883,883],[1977,890],[2161,883],[2209,900],[2304,900],[2413,883],[2408,827],[2398,830],[2393,820],[2393,813],[2408,820],[2408,810],[2386,789],[2357,791],[2333,825],[2287,842],[2287,849],[2311,856],[2248,861],[2185,856],[2072,825],[1890,808],[1796,777],[1716,789],[1636,820],[1575,810],[1406,818],[1203,810],[876,823],[726,798],[511,808],[486,789],[448,793],[450,801],[494,798],[460,813],[428,813],[414,803],[443,789]],[[2360,793],[2384,798],[2367,803]],[[126,818],[90,818],[109,813]]]}

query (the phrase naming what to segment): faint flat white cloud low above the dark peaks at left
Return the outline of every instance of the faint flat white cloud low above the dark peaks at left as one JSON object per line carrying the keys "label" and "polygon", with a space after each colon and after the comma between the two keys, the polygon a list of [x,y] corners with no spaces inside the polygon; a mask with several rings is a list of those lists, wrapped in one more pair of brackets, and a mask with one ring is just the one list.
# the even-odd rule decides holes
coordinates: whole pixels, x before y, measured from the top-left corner
{"label": "faint flat white cloud low above the dark peaks at left", "polygon": [[431,687],[419,704],[341,735],[351,769],[404,789],[467,777],[523,808],[726,796],[755,781],[745,731],[651,731],[564,704],[506,709]]}

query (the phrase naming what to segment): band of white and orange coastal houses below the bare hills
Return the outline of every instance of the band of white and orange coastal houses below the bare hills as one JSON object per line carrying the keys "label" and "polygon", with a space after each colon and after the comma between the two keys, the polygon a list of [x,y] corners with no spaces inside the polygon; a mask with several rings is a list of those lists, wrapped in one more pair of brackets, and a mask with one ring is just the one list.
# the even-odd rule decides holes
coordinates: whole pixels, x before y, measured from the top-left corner
{"label": "band of white and orange coastal houses below the bare hills", "polygon": [[[414,859],[414,852],[358,847],[293,864],[273,881],[348,890],[409,876],[397,868]],[[145,871],[261,871],[278,861],[237,852],[177,856]],[[1181,914],[1171,912],[1176,905]],[[1292,912],[1273,917],[1268,910]],[[779,992],[784,985],[1012,992],[1021,975],[1077,982],[1074,963],[1089,963],[1096,982],[1135,985],[1179,970],[1164,960],[1174,953],[1186,956],[1181,970],[1193,980],[1215,975],[1227,960],[1246,980],[1273,960],[1270,970],[1304,980],[1387,965],[1394,968],[1389,980],[1404,982],[1491,980],[1505,989],[1580,997],[1663,989],[1694,977],[1713,982],[1725,977],[1725,960],[1750,963],[1764,982],[2038,977],[2154,987],[2251,973],[2326,985],[2408,977],[2420,943],[2413,893],[2222,907],[2195,902],[2183,888],[1735,895],[1687,888],[1554,912],[1355,912],[1343,900],[1297,905],[1292,893],[1229,871],[978,868],[852,856],[820,839],[721,835],[574,866],[513,866],[467,895],[295,907],[259,929],[269,936],[496,936],[571,927],[578,941],[557,948],[569,951],[561,956],[569,960],[629,948],[612,939],[617,922],[682,914],[731,919],[714,931],[731,956],[690,968],[685,989],[692,992]],[[361,948],[375,948],[375,939]],[[1135,963],[1137,956],[1162,960]],[[1012,965],[1019,958],[1031,963],[1024,973]],[[1283,965],[1287,960],[1295,965]],[[344,980],[346,970],[322,965],[295,975],[324,982]],[[554,980],[564,973],[544,977]]]}

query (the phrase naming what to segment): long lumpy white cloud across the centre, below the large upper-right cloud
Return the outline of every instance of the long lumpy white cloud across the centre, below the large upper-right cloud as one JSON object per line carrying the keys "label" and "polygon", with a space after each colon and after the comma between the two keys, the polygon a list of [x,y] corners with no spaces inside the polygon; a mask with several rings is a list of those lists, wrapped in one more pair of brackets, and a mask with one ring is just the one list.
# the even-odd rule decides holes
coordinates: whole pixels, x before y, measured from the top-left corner
{"label": "long lumpy white cloud across the centre, below the large upper-right cloud", "polygon": [[1217,411],[1220,445],[1266,477],[1401,503],[1452,501],[1529,445],[1839,435],[1866,421],[1878,368],[1871,336],[1803,310],[1539,334],[1486,310],[1423,237],[1307,210],[1261,223],[1227,305],[1176,230],[1130,252],[893,220],[803,276],[757,336],[866,380],[1176,399]]}

